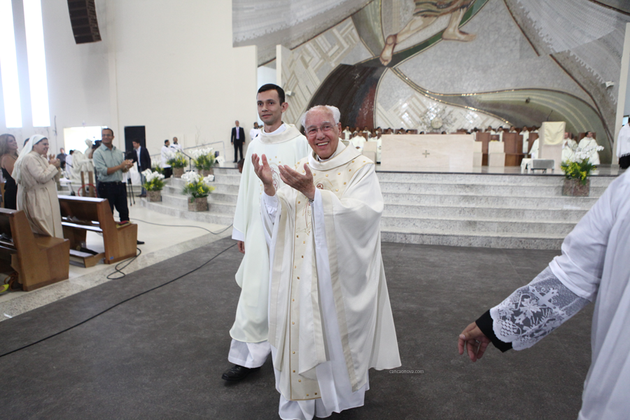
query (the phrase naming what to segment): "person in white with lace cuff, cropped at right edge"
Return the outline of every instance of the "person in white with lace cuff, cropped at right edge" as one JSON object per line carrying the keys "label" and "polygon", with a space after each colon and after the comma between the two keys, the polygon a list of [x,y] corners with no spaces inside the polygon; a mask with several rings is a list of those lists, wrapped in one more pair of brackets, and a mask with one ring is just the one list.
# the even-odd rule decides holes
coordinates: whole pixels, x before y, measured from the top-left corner
{"label": "person in white with lace cuff, cropped at right edge", "polygon": [[591,367],[577,418],[628,419],[629,237],[630,174],[626,173],[612,181],[564,239],[561,256],[463,330],[459,353],[467,350],[474,362],[490,342],[501,351],[527,349],[594,301]]}

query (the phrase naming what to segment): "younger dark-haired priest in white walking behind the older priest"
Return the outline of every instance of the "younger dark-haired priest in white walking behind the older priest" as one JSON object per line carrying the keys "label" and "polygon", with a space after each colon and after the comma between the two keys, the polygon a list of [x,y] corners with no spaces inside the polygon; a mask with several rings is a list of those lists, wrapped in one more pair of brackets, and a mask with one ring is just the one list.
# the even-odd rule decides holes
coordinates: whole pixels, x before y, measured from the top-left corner
{"label": "younger dark-haired priest in white walking behind the older priest", "polygon": [[[282,122],[288,109],[284,90],[273,84],[262,85],[256,96],[263,130],[247,148],[245,161],[252,153],[266,153],[276,186],[281,186],[279,165],[295,165],[309,153],[307,139],[294,125]],[[244,165],[234,215],[232,239],[244,253],[235,279],[241,287],[234,325],[230,329],[228,360],[235,365],[223,373],[226,381],[239,381],[258,370],[269,356],[267,342],[267,304],[269,303],[269,253],[260,218],[262,183],[252,165]]]}

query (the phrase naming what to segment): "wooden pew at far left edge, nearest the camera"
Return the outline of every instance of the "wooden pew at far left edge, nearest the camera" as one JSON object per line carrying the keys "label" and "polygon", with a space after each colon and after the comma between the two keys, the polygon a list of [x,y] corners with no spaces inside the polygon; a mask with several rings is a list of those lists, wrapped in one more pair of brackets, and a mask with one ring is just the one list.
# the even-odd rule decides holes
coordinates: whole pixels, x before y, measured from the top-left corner
{"label": "wooden pew at far left edge, nearest the camera", "polygon": [[68,278],[70,241],[37,235],[21,210],[0,209],[0,270],[19,274],[30,291]]}

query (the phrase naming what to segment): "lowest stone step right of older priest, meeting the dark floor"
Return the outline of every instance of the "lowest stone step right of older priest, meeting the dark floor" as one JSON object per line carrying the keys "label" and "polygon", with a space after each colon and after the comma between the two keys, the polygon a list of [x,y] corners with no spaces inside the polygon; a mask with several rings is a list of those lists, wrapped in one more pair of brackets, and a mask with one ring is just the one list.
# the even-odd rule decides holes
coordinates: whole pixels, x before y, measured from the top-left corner
{"label": "lowest stone step right of older priest, meeting the dark floor", "polygon": [[381,240],[399,244],[475,246],[482,248],[560,249],[564,237],[528,234],[475,234],[470,232],[414,232],[381,230]]}

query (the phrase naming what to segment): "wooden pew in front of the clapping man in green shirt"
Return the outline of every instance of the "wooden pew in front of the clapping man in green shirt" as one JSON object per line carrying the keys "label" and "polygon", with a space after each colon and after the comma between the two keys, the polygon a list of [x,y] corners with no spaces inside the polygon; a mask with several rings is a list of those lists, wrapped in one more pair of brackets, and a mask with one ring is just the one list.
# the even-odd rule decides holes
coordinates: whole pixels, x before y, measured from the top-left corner
{"label": "wooden pew in front of the clapping man in green shirt", "polygon": [[[104,258],[105,264],[113,264],[136,255],[138,225],[117,225],[107,199],[59,195],[59,207],[64,237],[70,240],[73,260],[83,262],[85,267],[92,267],[101,258]],[[87,231],[102,233],[104,253],[92,255],[80,251],[82,244],[85,244]]]}

